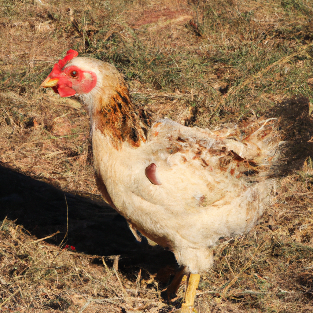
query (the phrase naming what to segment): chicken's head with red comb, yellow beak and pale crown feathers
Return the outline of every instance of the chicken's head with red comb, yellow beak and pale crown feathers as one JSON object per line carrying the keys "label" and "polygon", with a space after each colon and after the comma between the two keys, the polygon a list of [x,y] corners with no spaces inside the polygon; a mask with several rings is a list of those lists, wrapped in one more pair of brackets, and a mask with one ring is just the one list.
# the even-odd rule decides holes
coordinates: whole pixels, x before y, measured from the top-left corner
{"label": "chicken's head with red comb, yellow beak and pale crown feathers", "polygon": [[110,94],[110,90],[122,79],[115,67],[98,59],[77,55],[77,51],[67,51],[64,59],[54,64],[41,86],[51,87],[61,97],[80,95],[90,98],[101,90]]}

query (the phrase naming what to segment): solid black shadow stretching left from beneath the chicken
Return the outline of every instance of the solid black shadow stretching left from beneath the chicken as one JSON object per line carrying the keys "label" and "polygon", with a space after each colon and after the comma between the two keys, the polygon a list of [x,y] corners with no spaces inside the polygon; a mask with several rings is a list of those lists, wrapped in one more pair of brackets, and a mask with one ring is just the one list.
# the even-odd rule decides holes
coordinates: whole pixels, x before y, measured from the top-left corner
{"label": "solid black shadow stretching left from beneath the chicken", "polygon": [[59,231],[45,240],[59,245],[67,230],[67,207],[66,244],[77,251],[98,256],[120,255],[119,270],[126,275],[144,269],[162,276],[164,269],[175,272],[178,268],[172,252],[150,246],[146,238],[136,241],[125,218],[100,196],[89,199],[64,192],[0,164],[0,220],[5,217],[15,220],[37,238]]}

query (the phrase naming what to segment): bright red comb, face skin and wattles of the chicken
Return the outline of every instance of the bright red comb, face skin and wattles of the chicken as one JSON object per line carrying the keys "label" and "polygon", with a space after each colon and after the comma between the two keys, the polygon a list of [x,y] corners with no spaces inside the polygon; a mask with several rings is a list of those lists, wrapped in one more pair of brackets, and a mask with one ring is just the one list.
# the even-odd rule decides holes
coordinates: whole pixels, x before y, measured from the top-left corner
{"label": "bright red comb, face skin and wattles of the chicken", "polygon": [[[64,59],[54,64],[49,78],[58,78],[59,81],[52,89],[61,97],[70,97],[78,94],[89,93],[97,83],[97,76],[94,72],[83,71],[77,66],[64,66],[78,55],[77,51],[69,50]],[[74,72],[76,72],[74,74]],[[73,75],[74,74],[74,75]]]}

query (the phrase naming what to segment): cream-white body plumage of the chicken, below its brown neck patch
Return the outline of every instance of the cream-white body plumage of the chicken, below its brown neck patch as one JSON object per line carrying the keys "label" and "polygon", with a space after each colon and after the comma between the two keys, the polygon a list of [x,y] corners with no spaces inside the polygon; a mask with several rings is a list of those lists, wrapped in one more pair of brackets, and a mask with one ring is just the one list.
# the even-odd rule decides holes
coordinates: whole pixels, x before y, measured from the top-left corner
{"label": "cream-white body plumage of the chicken, below its brown neck patch", "polygon": [[[221,139],[169,119],[155,123],[147,141],[136,149],[124,142],[116,150],[100,131],[92,138],[96,170],[117,210],[141,233],[171,249],[192,273],[211,266],[208,248],[220,237],[250,230],[269,201],[271,180],[263,177],[251,183],[238,177],[242,174],[237,161],[220,167],[221,154],[237,148],[239,156],[251,158],[257,145]],[[266,152],[272,156],[272,149]],[[145,175],[151,163],[156,164],[159,186]]]}

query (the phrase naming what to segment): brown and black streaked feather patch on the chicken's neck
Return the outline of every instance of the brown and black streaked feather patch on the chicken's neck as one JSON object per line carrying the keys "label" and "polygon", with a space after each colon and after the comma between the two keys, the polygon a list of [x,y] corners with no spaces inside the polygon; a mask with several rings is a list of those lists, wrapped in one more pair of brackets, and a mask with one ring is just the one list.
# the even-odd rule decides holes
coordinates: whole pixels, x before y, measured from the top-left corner
{"label": "brown and black streaked feather patch on the chicken's neck", "polygon": [[135,106],[124,83],[115,89],[109,101],[101,103],[96,114],[96,128],[103,134],[110,134],[117,149],[124,141],[133,147],[139,147],[141,141],[146,141],[145,133],[148,126],[140,127],[139,124],[142,123],[139,122]]}

